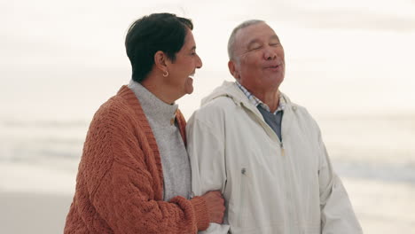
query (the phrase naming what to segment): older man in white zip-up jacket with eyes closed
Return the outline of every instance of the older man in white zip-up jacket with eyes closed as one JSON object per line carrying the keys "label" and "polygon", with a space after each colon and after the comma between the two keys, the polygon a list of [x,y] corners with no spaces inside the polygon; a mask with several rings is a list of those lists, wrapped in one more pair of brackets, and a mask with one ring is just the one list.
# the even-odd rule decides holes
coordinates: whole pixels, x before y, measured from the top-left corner
{"label": "older man in white zip-up jacket with eyes closed", "polygon": [[207,233],[362,233],[307,110],[278,88],[284,49],[262,20],[231,33],[224,82],[186,129],[192,190],[221,190],[225,222]]}

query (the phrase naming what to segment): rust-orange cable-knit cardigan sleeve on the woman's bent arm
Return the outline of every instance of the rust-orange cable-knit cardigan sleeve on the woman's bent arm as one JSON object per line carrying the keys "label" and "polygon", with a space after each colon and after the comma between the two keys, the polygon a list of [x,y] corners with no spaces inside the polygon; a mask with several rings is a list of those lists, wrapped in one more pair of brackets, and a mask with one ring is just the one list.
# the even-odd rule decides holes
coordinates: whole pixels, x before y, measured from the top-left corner
{"label": "rust-orange cable-knit cardigan sleeve on the woman's bent arm", "polygon": [[[154,190],[158,185],[154,185],[157,179],[153,175],[159,173],[146,166],[154,163],[153,158],[146,157],[150,152],[131,140],[135,134],[116,130],[101,137],[99,145],[106,149],[94,157],[110,161],[105,174],[96,178],[99,170],[95,166],[84,170],[93,208],[114,233],[196,233],[206,229],[208,214],[203,198],[156,199],[160,195]],[[99,163],[94,160],[90,165]]]}

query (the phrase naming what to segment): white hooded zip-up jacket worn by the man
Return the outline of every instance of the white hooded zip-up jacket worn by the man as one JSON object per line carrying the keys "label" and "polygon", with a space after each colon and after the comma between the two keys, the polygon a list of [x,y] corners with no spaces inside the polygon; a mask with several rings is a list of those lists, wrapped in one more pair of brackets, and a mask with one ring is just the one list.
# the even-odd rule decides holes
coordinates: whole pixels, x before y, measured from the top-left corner
{"label": "white hooded zip-up jacket worn by the man", "polygon": [[222,191],[226,205],[227,224],[203,233],[362,233],[316,121],[283,97],[282,142],[234,82],[193,113],[192,191]]}

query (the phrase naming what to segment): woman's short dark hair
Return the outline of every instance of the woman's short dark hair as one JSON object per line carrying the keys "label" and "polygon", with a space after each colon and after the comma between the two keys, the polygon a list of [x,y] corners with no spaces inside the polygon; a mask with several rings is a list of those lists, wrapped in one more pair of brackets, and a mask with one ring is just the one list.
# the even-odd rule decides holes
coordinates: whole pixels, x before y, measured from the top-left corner
{"label": "woman's short dark hair", "polygon": [[153,68],[157,51],[165,52],[174,62],[176,52],[184,45],[187,28],[193,29],[192,20],[170,13],[154,13],[132,23],[125,38],[132,79],[135,82],[145,80]]}

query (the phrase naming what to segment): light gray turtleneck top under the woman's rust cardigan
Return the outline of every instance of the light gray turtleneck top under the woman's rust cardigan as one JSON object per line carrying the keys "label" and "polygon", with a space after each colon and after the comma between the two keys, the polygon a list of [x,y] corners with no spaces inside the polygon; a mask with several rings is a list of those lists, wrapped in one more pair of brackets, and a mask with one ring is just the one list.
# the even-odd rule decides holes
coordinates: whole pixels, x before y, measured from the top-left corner
{"label": "light gray turtleneck top under the woman's rust cardigan", "polygon": [[189,199],[192,174],[183,138],[174,121],[178,105],[166,104],[138,82],[131,80],[128,87],[136,94],[159,148],[164,177],[163,199],[168,201],[176,196]]}

